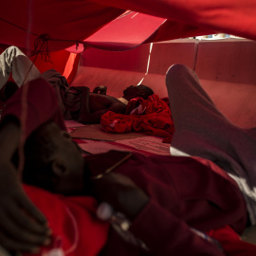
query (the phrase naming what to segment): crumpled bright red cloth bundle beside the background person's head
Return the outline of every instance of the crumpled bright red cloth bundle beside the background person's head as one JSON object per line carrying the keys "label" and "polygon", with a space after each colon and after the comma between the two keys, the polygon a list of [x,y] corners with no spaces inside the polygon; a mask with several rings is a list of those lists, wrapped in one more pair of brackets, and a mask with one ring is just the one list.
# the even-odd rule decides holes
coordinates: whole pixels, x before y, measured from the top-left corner
{"label": "crumpled bright red cloth bundle beside the background person's head", "polygon": [[174,120],[166,99],[152,95],[148,100],[136,98],[129,101],[125,115],[107,112],[101,117],[102,129],[110,133],[144,132],[164,137],[171,143],[174,135]]}

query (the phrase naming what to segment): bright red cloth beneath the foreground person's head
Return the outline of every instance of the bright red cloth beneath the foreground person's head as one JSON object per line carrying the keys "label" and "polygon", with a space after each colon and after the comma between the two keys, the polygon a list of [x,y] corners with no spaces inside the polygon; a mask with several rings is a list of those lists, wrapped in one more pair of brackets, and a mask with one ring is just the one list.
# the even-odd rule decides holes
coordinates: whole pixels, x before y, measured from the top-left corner
{"label": "bright red cloth beneath the foreground person's head", "polygon": [[95,256],[107,240],[108,224],[95,214],[97,202],[88,196],[64,197],[24,185],[31,201],[41,210],[52,229],[52,243],[37,255],[49,255],[52,249],[64,255]]}

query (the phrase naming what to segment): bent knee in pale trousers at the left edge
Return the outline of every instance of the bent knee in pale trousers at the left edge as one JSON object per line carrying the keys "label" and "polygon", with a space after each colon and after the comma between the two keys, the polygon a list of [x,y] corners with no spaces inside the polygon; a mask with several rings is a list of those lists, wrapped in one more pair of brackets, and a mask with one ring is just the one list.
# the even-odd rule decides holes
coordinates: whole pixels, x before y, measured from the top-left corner
{"label": "bent knee in pale trousers at the left edge", "polygon": [[0,89],[8,82],[10,72],[19,87],[41,76],[37,67],[16,46],[10,46],[0,55]]}

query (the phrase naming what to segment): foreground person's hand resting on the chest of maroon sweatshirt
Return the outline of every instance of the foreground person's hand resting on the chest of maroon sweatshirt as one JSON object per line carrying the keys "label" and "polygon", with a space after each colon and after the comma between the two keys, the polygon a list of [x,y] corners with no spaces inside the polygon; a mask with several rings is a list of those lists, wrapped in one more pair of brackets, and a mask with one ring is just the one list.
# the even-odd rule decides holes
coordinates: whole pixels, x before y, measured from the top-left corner
{"label": "foreground person's hand resting on the chest of maroon sweatshirt", "polygon": [[105,174],[93,181],[94,194],[100,202],[107,202],[114,210],[133,220],[149,202],[149,197],[127,176]]}

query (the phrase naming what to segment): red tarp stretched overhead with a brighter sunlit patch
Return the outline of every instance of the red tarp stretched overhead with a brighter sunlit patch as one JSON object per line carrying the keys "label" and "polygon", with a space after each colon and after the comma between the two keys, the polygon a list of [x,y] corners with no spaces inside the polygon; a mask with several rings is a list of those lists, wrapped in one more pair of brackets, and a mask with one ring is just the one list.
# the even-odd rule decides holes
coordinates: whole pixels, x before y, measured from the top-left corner
{"label": "red tarp stretched overhead with a brighter sunlit patch", "polygon": [[[109,29],[105,32],[101,30],[99,38],[94,34],[126,9],[154,15],[162,20],[139,15],[133,24],[134,28],[129,29],[133,14],[129,18],[123,16],[120,18],[123,22],[120,19],[115,21],[119,23],[114,26],[118,29],[118,34],[117,31],[114,34],[119,35],[114,36],[116,42],[113,38],[108,39]],[[72,46],[73,42],[86,40],[92,34],[94,36],[88,42],[90,46],[109,48],[113,45],[119,50],[137,46],[144,41],[214,32],[255,40],[255,13],[255,0],[9,0],[1,3],[0,43],[33,48],[35,39],[43,34],[61,40],[50,41],[50,50]],[[167,21],[164,23],[165,19]],[[150,34],[153,36],[148,39]]]}

